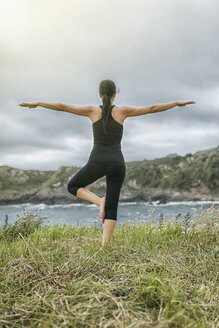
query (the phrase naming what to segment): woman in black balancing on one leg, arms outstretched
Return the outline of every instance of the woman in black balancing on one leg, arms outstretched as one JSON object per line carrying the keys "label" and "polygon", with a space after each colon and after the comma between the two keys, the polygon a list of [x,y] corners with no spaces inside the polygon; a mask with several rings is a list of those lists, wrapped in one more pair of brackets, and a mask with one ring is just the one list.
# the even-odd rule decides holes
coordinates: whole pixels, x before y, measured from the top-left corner
{"label": "woman in black balancing on one leg, arms outstretched", "polygon": [[[99,85],[100,106],[77,106],[62,103],[21,103],[19,106],[35,108],[37,106],[87,116],[92,122],[94,144],[87,163],[76,172],[67,184],[72,195],[96,204],[102,219],[102,245],[108,244],[117,220],[120,190],[125,179],[126,166],[121,150],[123,122],[127,117],[165,111],[175,106],[195,104],[194,101],[174,101],[149,106],[113,105],[116,85],[112,80],[103,80]],[[106,196],[98,197],[86,186],[106,176]]]}

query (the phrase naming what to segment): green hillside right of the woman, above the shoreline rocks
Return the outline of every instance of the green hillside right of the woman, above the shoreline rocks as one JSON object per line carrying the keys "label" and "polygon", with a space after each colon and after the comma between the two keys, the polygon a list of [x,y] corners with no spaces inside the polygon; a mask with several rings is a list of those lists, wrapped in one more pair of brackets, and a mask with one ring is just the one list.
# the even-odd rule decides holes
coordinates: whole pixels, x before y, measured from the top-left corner
{"label": "green hillside right of the woman, above the shoreline rocks", "polygon": [[219,193],[219,147],[183,157],[130,162],[126,178],[140,187],[189,191],[204,185]]}

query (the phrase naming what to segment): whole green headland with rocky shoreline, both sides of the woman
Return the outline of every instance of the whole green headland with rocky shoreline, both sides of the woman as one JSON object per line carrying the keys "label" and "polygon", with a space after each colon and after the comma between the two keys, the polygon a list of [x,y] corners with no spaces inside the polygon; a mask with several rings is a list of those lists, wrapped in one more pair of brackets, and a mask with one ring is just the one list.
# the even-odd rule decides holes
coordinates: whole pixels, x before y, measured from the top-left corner
{"label": "whole green headland with rocky shoreline, both sides of the woman", "polygon": [[[80,167],[56,171],[21,170],[0,166],[0,205],[22,203],[88,203],[67,191],[67,183]],[[102,197],[106,179],[88,186]],[[219,200],[219,147],[178,156],[126,163],[120,202],[167,203]]]}

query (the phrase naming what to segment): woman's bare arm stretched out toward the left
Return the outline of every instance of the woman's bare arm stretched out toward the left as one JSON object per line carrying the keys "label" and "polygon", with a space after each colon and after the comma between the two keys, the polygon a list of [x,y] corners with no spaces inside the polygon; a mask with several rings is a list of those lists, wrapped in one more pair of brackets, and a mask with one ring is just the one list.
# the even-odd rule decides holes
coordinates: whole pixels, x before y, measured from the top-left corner
{"label": "woman's bare arm stretched out toward the left", "polygon": [[49,103],[49,102],[41,102],[36,101],[33,103],[20,103],[19,106],[22,107],[29,107],[29,108],[36,108],[37,106],[58,110],[62,112],[68,112],[71,114],[81,115],[81,116],[90,116],[90,113],[92,112],[93,106],[91,105],[67,105],[62,103]]}

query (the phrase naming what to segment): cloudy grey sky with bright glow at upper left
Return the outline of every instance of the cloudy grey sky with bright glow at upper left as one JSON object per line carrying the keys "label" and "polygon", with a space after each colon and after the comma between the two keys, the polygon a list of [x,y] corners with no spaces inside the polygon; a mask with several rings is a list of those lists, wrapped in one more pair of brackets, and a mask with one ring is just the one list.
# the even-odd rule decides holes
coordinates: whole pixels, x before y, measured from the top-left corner
{"label": "cloudy grey sky with bright glow at upper left", "polygon": [[219,144],[218,0],[10,0],[0,2],[0,165],[83,166],[89,118],[21,102],[117,106],[196,104],[128,117],[126,162]]}

